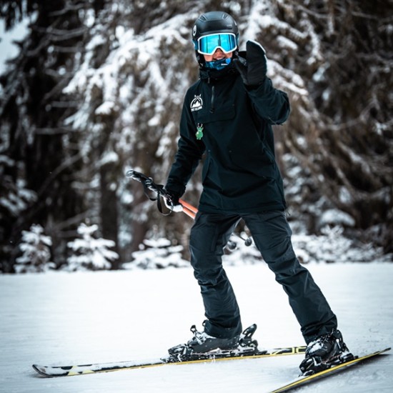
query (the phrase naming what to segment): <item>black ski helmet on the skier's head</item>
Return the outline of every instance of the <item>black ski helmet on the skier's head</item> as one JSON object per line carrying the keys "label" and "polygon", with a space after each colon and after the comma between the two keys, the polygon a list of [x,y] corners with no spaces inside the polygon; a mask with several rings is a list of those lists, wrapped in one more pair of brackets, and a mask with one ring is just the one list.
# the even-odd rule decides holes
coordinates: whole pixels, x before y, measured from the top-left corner
{"label": "black ski helmet on the skier's head", "polygon": [[236,46],[239,42],[239,29],[236,21],[224,11],[210,11],[199,16],[192,27],[192,42],[194,43],[195,55],[200,66],[204,65],[204,56],[198,52],[198,39],[210,34],[229,33],[234,34]]}

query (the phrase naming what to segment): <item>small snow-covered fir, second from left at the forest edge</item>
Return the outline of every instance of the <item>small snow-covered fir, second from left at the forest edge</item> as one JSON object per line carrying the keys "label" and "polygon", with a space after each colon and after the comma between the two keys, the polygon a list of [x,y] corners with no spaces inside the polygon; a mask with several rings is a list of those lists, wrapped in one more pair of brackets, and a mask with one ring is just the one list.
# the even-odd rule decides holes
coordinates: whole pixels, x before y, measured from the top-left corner
{"label": "small snow-covered fir, second from left at the forest edge", "polygon": [[64,270],[75,272],[76,270],[104,270],[110,269],[111,263],[119,258],[119,254],[111,251],[114,242],[109,239],[95,239],[94,232],[99,229],[98,225],[80,224],[79,239],[67,243],[72,254],[67,259]]}

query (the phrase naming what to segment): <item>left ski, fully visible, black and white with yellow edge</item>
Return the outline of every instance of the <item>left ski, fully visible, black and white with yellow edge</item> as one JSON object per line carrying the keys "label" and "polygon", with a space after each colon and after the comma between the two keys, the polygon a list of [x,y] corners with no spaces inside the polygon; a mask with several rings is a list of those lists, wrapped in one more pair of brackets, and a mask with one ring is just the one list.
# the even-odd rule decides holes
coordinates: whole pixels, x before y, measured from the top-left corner
{"label": "left ski, fully visible, black and white with yellow edge", "polygon": [[44,377],[67,377],[81,374],[95,374],[99,372],[112,372],[125,369],[144,369],[148,367],[159,367],[169,364],[196,364],[202,362],[219,362],[234,359],[260,359],[264,357],[276,357],[284,355],[304,354],[306,347],[283,347],[271,350],[255,350],[254,352],[246,351],[222,351],[208,354],[192,354],[187,355],[186,359],[181,357],[166,357],[162,359],[153,359],[144,362],[111,362],[96,364],[81,364],[70,366],[40,366],[33,364],[36,372]]}

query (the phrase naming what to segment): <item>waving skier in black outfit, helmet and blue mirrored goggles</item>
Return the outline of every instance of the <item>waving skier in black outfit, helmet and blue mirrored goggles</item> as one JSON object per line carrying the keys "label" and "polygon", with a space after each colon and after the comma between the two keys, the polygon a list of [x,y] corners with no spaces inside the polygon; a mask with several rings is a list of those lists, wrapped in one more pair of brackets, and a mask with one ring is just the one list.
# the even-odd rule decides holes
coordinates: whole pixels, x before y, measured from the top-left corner
{"label": "waving skier in black outfit, helmet and blue mirrored goggles", "polygon": [[242,322],[222,255],[237,223],[244,219],[289,297],[308,344],[300,365],[307,372],[348,349],[337,330],[337,317],[292,249],[272,132],[272,125],[284,123],[289,116],[288,96],[267,78],[267,58],[260,44],[247,41],[247,52],[239,51],[237,23],[229,14],[211,11],[199,16],[192,41],[199,81],[186,92],[178,150],[165,185],[174,210],[181,210],[179,198],[206,155],[189,247],[207,319],[203,332],[192,329],[194,337],[185,346],[209,352],[238,345]]}

